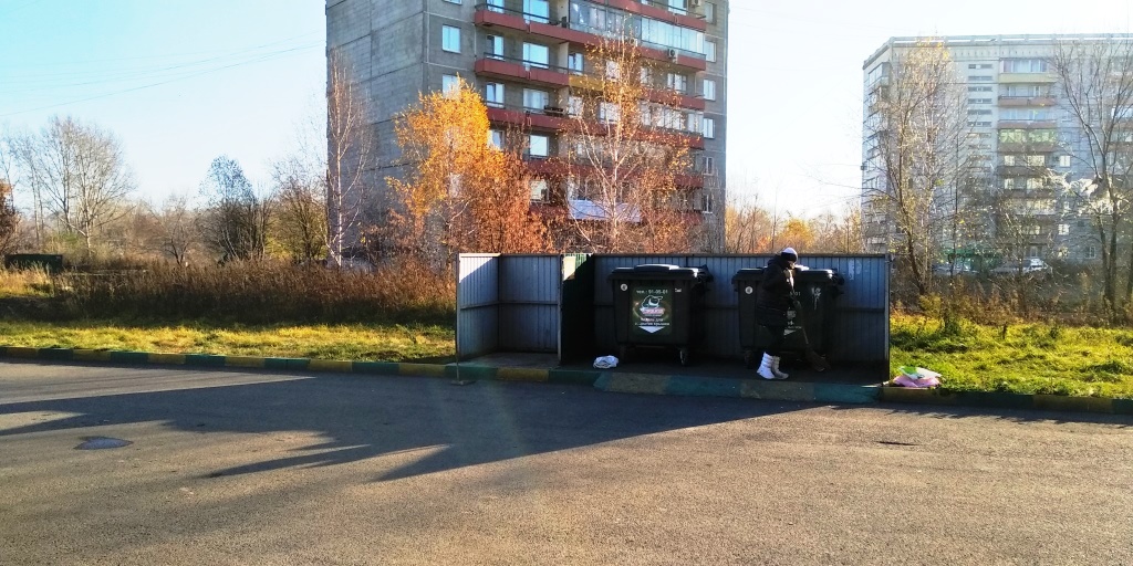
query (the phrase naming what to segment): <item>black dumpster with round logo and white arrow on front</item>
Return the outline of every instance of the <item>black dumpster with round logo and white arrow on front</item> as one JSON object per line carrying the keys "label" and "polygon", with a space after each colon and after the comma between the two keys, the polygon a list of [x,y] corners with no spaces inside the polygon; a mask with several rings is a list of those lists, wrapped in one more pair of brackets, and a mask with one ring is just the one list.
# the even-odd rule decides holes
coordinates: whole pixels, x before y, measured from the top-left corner
{"label": "black dumpster with round logo and white arrow on front", "polygon": [[630,348],[675,348],[681,365],[704,340],[704,302],[713,280],[706,267],[647,264],[617,267],[608,277],[614,291],[617,354]]}

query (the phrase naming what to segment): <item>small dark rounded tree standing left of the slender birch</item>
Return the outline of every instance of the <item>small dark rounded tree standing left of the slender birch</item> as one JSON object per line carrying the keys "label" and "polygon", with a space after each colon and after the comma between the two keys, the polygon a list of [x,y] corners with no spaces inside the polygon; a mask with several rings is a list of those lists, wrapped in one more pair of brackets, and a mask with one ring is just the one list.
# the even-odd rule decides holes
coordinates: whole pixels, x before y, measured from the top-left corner
{"label": "small dark rounded tree standing left of the slender birch", "polygon": [[208,249],[222,261],[263,257],[267,203],[256,196],[244,168],[227,155],[216,157],[201,183],[201,192],[208,203],[199,218]]}

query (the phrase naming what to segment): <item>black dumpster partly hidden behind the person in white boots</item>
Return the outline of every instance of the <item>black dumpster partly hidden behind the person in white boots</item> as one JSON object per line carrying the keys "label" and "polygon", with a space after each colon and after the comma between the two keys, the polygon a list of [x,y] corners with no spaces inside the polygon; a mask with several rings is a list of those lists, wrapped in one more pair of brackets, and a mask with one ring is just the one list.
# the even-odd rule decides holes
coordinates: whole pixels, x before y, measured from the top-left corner
{"label": "black dumpster partly hidden behind the person in white boots", "polygon": [[[732,288],[740,295],[740,345],[743,363],[752,367],[756,354],[763,352],[769,337],[767,329],[756,324],[756,295],[764,278],[764,268],[740,269],[732,277]],[[807,341],[819,353],[827,349],[834,298],[842,294],[845,280],[836,269],[795,268],[794,299],[799,310],[786,327],[783,350],[806,352]],[[806,331],[806,336],[803,335]]]}

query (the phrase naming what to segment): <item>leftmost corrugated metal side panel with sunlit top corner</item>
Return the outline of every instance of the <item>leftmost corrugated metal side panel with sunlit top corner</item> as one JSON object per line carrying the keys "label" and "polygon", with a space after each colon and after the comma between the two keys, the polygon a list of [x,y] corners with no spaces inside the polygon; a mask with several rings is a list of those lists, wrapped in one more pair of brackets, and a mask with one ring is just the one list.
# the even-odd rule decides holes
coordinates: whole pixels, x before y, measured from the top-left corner
{"label": "leftmost corrugated metal side panel with sunlit top corner", "polygon": [[465,358],[500,350],[497,276],[501,257],[462,254],[457,276],[457,354]]}

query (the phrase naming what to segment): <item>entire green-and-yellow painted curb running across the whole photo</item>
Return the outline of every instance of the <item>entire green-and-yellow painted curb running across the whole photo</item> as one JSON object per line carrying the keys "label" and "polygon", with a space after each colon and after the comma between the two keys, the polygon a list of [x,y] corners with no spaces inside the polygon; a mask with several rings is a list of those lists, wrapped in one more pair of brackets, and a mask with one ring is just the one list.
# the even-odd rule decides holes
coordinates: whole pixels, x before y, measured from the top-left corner
{"label": "entire green-and-yellow painted curb running across the whole photo", "polygon": [[178,354],[66,348],[0,346],[0,358],[113,362],[123,365],[333,371],[378,376],[446,377],[451,379],[460,378],[462,380],[550,383],[594,386],[600,391],[614,393],[740,397],[802,403],[912,403],[1133,415],[1133,400],[1038,394],[1024,395],[1016,393],[949,392],[940,388],[912,389],[888,387],[880,384],[842,385],[656,374],[492,367],[467,363],[461,363],[458,367],[455,363],[256,358],[246,355]]}

